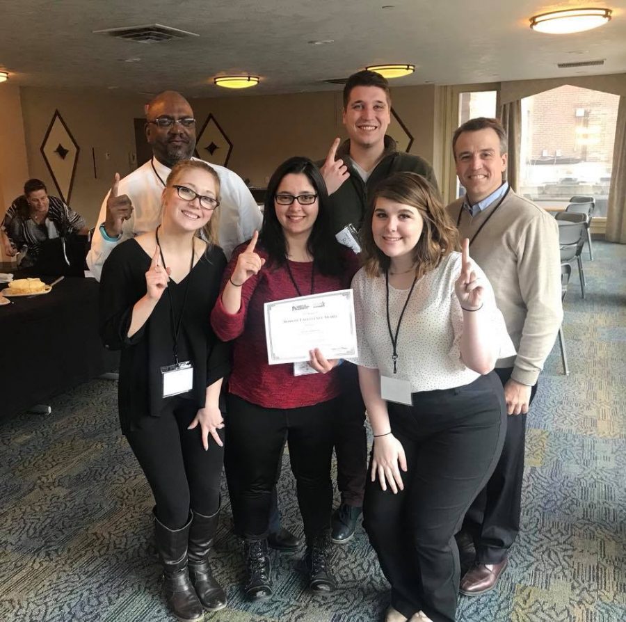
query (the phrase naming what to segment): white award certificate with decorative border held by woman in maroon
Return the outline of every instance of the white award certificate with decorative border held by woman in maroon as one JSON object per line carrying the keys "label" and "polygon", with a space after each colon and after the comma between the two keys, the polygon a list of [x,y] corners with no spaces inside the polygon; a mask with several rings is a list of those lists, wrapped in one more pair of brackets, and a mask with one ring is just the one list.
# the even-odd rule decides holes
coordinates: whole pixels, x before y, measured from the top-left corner
{"label": "white award certificate with decorative border held by woman in maroon", "polygon": [[269,365],[310,360],[319,348],[326,358],[358,355],[352,289],[265,303]]}

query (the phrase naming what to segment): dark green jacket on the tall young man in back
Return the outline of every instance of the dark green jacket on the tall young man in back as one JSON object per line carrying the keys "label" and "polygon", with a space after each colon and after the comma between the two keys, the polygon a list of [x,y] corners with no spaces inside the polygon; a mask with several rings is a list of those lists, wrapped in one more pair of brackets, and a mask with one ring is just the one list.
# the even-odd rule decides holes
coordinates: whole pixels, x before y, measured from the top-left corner
{"label": "dark green jacket on the tall young man in back", "polygon": [[[350,177],[330,195],[332,205],[332,226],[336,232],[341,231],[348,223],[352,223],[357,230],[361,228],[365,210],[367,209],[368,193],[374,186],[398,170],[408,170],[426,177],[436,191],[439,191],[433,167],[424,158],[397,150],[396,141],[391,136],[385,136],[385,152],[378,164],[372,170],[365,184],[355,170],[350,157],[350,141],[344,141],[337,149],[336,158],[341,158],[348,167]],[[323,161],[320,163],[323,164]]]}

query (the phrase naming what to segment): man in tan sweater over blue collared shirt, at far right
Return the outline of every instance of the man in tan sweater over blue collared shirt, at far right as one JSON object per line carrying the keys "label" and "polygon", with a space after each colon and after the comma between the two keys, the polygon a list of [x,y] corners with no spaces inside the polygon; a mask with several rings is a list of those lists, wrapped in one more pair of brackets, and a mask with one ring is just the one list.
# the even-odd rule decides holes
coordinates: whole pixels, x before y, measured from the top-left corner
{"label": "man in tan sweater over blue collared shirt, at far right", "polygon": [[503,182],[506,133],[496,119],[476,118],[454,133],[456,173],[466,195],[448,212],[472,259],[485,271],[517,356],[498,360],[508,409],[499,463],[465,516],[461,542],[470,537],[474,565],[460,592],[478,596],[493,589],[520,530],[524,436],[529,405],[543,363],[563,319],[559,227],[543,209]]}

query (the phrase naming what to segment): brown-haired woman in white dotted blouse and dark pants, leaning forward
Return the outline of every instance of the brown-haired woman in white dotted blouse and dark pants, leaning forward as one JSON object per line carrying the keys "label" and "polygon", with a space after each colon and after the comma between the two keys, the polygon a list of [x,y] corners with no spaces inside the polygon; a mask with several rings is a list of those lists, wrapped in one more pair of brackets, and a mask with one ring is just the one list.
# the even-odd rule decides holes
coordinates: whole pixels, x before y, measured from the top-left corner
{"label": "brown-haired woman in white dotted blouse and dark pants, leaning forward", "polygon": [[515,353],[483,271],[415,173],[378,185],[353,279],[374,432],[364,526],[392,586],[385,621],[454,621],[454,534],[506,430],[497,358]]}

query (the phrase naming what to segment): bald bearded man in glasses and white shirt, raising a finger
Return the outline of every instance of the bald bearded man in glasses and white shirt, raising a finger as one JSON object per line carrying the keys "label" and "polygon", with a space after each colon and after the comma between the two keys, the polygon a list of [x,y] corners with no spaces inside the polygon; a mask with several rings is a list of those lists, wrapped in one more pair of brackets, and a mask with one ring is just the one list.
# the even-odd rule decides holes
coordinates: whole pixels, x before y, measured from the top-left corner
{"label": "bald bearded man in glasses and white shirt, raising a finger", "polygon": [[[100,209],[87,264],[97,280],[102,264],[120,241],[157,228],[161,193],[172,166],[191,158],[195,149],[195,119],[180,93],[164,91],[146,110],[145,136],[152,159],[123,180],[115,175],[111,191]],[[259,229],[262,214],[241,177],[211,164],[220,177],[219,240],[226,257]]]}

